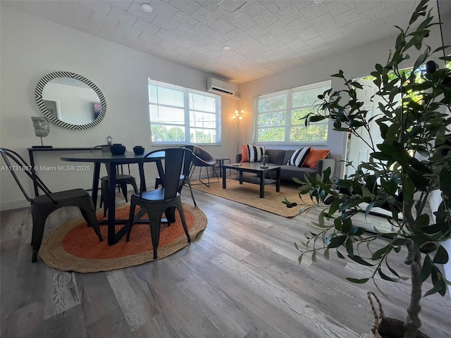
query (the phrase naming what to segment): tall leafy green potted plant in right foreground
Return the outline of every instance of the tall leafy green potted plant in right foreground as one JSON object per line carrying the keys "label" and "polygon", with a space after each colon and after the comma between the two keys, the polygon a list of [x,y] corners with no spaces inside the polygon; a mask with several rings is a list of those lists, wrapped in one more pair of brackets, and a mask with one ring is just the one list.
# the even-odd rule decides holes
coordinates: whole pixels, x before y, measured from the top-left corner
{"label": "tall leafy green potted plant in right foreground", "polygon": [[[430,60],[445,47],[433,50],[424,43],[430,28],[438,25],[433,23],[427,2],[421,1],[417,6],[406,30],[398,27],[400,34],[388,62],[376,64],[371,73],[378,88],[376,96],[382,102],[378,107],[379,115],[367,118],[369,112],[357,99],[357,89],[362,89],[362,84],[347,80],[340,70],[332,76],[342,78],[345,89],[324,92],[319,96],[318,111],[306,117],[306,125],[331,119],[334,130],[350,132],[352,137],[360,138],[362,132],[370,134],[370,123],[376,123],[383,142],[366,141],[371,148],[369,161],[347,163],[356,168],[350,177],[329,180],[326,170],[322,177],[305,177],[306,182],[297,180],[302,184],[299,196],[309,193],[318,206],[323,207],[315,223],[318,231],[307,236],[304,246],[295,244],[301,251],[299,263],[307,253],[316,261],[319,251],[323,251],[326,258],[332,251],[340,258],[373,269],[366,278],[348,277],[347,280],[354,283],[372,280],[376,284],[376,276],[392,282],[400,280],[402,276],[390,266],[389,258],[391,254],[405,256],[404,263],[410,266],[412,282],[404,322],[406,338],[417,337],[421,327],[423,282],[431,280],[433,284],[424,296],[435,292],[443,296],[449,284],[440,270],[440,265],[448,261],[448,253],[440,242],[451,238],[451,134],[448,129],[451,71],[438,69]],[[408,51],[414,48],[420,51],[420,56],[414,61],[412,72],[402,71],[401,63],[409,59]],[[450,61],[450,57],[441,59]],[[417,75],[425,63],[426,73]],[[416,81],[416,76],[421,77],[421,83]],[[435,223],[424,211],[428,196],[434,190],[439,190],[442,197],[435,212]],[[289,201],[284,203],[290,206]],[[387,221],[393,224],[393,232],[368,234],[362,227],[352,224],[354,215],[368,214],[376,207],[391,211]],[[371,243],[381,236],[388,237],[388,244],[371,250]],[[369,254],[360,253],[361,244],[369,244]]]}

